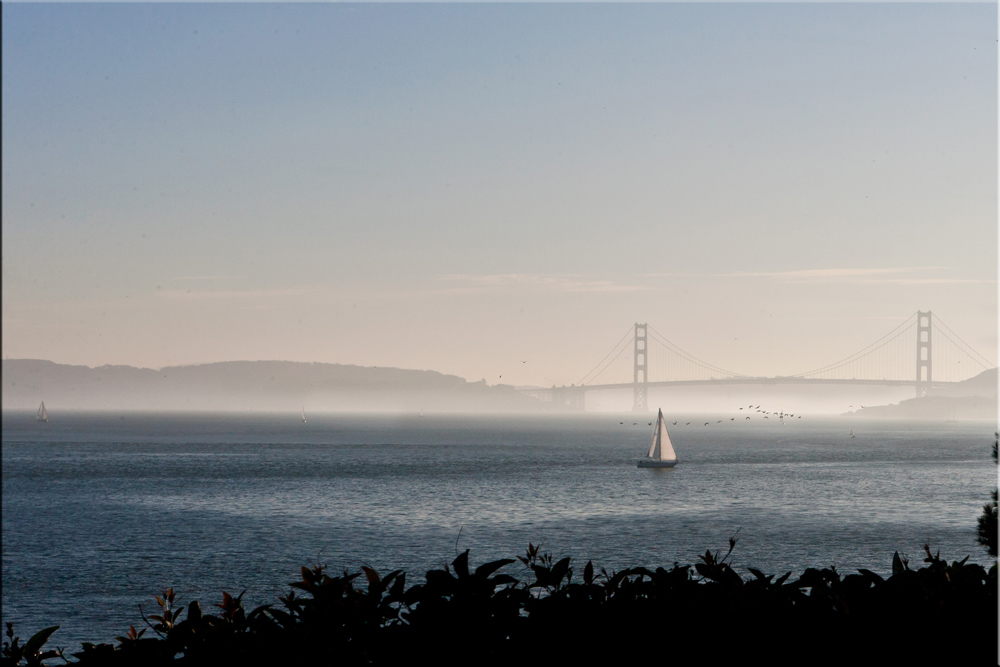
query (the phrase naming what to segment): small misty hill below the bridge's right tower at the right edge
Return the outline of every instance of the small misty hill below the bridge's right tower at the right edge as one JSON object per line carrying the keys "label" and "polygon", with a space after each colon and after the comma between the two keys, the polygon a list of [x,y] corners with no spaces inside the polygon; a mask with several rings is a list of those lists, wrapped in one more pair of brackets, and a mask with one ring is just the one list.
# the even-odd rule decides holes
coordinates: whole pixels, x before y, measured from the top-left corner
{"label": "small misty hill below the bridge's right tower at the right edge", "polygon": [[997,369],[958,382],[946,389],[936,389],[920,398],[893,405],[875,405],[849,414],[858,417],[892,419],[997,419]]}

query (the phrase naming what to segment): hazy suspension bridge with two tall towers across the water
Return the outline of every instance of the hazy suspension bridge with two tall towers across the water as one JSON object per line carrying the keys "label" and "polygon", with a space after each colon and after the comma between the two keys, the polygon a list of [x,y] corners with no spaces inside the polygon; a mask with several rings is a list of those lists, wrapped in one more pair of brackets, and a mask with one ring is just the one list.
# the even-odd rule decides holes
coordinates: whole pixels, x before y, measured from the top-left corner
{"label": "hazy suspension bridge with two tall towers across the water", "polygon": [[[963,363],[964,362],[964,363]],[[916,396],[954,385],[996,365],[931,311],[917,311],[872,344],[832,364],[790,376],[755,377],[719,368],[685,352],[647,323],[636,322],[579,382],[527,392],[583,410],[588,391],[632,389],[632,409],[649,409],[655,387],[697,385],[913,386]]]}

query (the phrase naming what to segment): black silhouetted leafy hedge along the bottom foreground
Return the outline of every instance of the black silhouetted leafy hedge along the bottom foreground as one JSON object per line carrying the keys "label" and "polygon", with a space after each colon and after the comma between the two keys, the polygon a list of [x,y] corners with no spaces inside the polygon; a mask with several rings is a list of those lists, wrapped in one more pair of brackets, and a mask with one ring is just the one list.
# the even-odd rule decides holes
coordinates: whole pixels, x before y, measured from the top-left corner
{"label": "black silhouetted leafy hedge along the bottom foreground", "polygon": [[[475,569],[469,552],[407,587],[406,575],[370,567],[331,576],[302,568],[281,606],[247,612],[223,593],[217,612],[156,596],[146,631],[113,644],[83,644],[74,664],[92,665],[582,665],[660,655],[674,664],[995,664],[997,566],[948,563],[925,546],[926,565],[893,556],[892,576],[833,567],[777,579],[744,579],[729,552],[706,551],[693,568],[629,568],[575,578],[569,558],[528,545],[517,560]],[[524,579],[501,572],[520,562]],[[693,570],[693,571],[692,571]],[[23,646],[8,624],[2,665],[37,665],[56,628]]]}

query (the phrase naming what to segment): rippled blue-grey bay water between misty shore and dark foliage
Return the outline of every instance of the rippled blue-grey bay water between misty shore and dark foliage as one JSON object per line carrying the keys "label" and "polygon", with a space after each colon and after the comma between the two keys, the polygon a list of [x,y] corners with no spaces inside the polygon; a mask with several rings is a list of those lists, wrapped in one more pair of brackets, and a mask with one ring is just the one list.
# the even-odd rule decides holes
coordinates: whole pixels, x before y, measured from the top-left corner
{"label": "rippled blue-grey bay water between misty shore and dark foliage", "polygon": [[5,413],[3,620],[78,650],[169,586],[250,608],[306,564],[415,582],[529,542],[608,570],[693,563],[737,530],[737,567],[775,574],[885,574],[924,543],[986,562],[994,424],[732,416],[671,415],[681,463],[640,470],[653,416]]}

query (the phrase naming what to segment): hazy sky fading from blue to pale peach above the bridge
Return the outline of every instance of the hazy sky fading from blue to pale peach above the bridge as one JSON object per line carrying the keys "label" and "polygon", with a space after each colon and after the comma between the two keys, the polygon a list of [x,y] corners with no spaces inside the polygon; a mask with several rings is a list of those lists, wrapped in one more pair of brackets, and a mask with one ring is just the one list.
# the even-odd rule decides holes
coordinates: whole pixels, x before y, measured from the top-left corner
{"label": "hazy sky fading from blue to pale peach above the bridge", "polygon": [[[10,4],[3,354],[996,361],[997,5]],[[525,361],[526,363],[521,363]]]}

